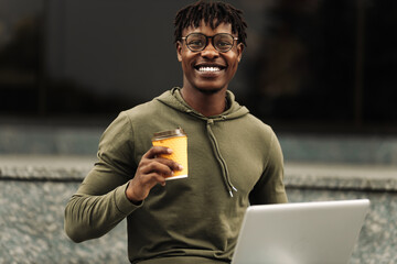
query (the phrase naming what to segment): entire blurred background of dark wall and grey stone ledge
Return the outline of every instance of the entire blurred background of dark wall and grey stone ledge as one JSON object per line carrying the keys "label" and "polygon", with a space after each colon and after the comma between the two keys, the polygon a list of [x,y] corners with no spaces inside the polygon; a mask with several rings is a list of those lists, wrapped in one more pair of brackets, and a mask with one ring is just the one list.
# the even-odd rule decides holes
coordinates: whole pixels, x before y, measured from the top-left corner
{"label": "entire blurred background of dark wall and grey stone ledge", "polygon": [[[73,243],[68,198],[126,109],[182,86],[193,0],[0,0],[0,263],[127,262],[126,221]],[[229,89],[279,136],[290,202],[371,199],[351,263],[397,263],[397,1],[229,0]]]}

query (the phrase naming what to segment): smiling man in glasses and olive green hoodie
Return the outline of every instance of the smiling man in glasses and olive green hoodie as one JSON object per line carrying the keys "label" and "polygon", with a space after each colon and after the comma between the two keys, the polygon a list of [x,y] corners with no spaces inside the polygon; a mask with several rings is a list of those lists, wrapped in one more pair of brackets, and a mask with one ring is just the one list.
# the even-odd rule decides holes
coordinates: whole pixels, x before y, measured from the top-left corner
{"label": "smiling man in glasses and olive green hoodie", "polygon": [[[227,90],[246,38],[242,12],[198,1],[176,14],[183,87],[124,111],[104,132],[98,162],[65,209],[76,242],[101,237],[122,219],[131,263],[228,263],[246,208],[287,202],[272,130]],[[187,134],[189,177],[160,157],[153,133]]]}

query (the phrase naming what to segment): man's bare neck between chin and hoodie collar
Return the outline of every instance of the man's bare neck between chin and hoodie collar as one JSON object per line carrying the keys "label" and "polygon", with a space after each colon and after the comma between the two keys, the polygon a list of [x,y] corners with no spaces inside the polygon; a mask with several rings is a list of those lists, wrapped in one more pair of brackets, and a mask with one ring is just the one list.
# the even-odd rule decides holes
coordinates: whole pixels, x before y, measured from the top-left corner
{"label": "man's bare neck between chin and hoodie collar", "polygon": [[218,116],[226,108],[226,88],[216,92],[203,92],[196,89],[181,89],[187,105],[204,117]]}

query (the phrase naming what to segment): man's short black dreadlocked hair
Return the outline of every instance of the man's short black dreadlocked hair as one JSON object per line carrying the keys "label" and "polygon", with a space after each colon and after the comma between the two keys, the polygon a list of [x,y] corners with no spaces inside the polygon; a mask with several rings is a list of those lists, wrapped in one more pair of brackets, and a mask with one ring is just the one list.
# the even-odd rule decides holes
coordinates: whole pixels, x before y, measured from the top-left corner
{"label": "man's short black dreadlocked hair", "polygon": [[243,18],[243,11],[229,3],[211,0],[200,0],[178,11],[174,20],[174,43],[181,40],[184,29],[189,26],[198,28],[202,21],[213,30],[221,23],[230,24],[232,33],[238,34],[238,43],[247,46],[247,23]]}

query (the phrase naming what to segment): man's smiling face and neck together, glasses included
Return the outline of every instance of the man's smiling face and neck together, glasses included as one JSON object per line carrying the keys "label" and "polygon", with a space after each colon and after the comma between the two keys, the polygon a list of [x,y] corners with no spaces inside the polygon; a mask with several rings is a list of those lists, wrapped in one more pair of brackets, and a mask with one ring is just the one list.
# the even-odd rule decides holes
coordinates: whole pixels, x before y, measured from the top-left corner
{"label": "man's smiling face and neck together, glasses included", "polygon": [[225,110],[227,86],[242,59],[244,44],[232,32],[229,23],[202,20],[184,29],[184,36],[176,41],[183,69],[182,97],[205,117]]}

